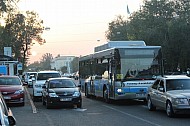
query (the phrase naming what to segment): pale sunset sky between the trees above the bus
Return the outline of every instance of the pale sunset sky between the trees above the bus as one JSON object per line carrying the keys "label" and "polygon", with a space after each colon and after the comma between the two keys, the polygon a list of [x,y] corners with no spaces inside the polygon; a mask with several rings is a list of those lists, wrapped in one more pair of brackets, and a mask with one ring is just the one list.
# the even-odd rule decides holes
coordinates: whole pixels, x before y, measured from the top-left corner
{"label": "pale sunset sky between the trees above the bus", "polygon": [[126,19],[130,12],[140,8],[143,0],[20,0],[19,10],[35,11],[44,26],[44,45],[35,43],[31,48],[29,63],[40,61],[42,55],[53,57],[84,56],[94,52],[94,47],[107,43],[108,24],[118,15]]}

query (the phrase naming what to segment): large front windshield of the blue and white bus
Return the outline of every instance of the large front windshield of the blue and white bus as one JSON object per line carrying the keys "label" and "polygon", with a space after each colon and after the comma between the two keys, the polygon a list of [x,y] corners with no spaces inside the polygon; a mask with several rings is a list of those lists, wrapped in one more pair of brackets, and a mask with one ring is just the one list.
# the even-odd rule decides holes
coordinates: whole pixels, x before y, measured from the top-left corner
{"label": "large front windshield of the blue and white bus", "polygon": [[159,49],[121,49],[116,75],[121,80],[147,80],[161,75]]}

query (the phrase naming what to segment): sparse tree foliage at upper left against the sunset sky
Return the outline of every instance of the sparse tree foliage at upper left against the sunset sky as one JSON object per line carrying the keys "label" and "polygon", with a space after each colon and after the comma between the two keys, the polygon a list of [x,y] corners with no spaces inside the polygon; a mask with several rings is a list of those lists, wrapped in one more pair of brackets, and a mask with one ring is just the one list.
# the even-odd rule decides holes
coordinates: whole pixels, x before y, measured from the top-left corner
{"label": "sparse tree foliage at upper left against the sunset sky", "polygon": [[5,20],[5,26],[0,28],[0,50],[12,47],[13,58],[21,59],[25,69],[34,41],[45,43],[41,38],[44,27],[36,12],[19,12],[18,2],[19,0],[0,0],[0,18]]}

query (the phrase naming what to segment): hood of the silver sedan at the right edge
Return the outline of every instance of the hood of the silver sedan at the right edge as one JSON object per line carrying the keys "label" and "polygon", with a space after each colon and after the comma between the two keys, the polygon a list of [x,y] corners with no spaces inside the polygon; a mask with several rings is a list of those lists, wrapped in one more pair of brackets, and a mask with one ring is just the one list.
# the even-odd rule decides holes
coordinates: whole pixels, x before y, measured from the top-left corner
{"label": "hood of the silver sedan at the right edge", "polygon": [[168,91],[168,94],[177,98],[190,98],[190,90],[172,90]]}

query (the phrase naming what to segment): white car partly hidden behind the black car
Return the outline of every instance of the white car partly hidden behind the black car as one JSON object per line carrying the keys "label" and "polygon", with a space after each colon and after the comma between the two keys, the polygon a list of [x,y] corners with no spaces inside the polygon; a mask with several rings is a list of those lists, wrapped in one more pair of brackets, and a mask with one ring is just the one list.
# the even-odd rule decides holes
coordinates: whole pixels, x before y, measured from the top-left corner
{"label": "white car partly hidden behind the black car", "polygon": [[61,77],[58,71],[40,71],[36,75],[36,80],[33,83],[33,100],[36,101],[37,98],[42,97],[42,86],[45,81],[49,78]]}

